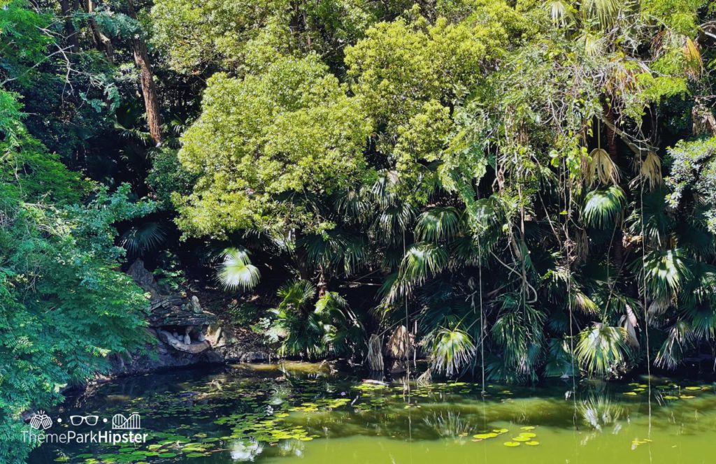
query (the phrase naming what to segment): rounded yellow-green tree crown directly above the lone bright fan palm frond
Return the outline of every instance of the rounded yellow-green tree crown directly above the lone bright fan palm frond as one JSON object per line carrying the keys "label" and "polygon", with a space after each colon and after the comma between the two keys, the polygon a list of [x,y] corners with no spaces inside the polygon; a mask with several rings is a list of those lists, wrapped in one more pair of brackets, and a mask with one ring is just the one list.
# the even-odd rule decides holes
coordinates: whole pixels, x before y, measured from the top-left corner
{"label": "rounded yellow-green tree crown directly above the lone bright fan palm frond", "polygon": [[216,74],[179,160],[199,175],[178,199],[188,233],[241,228],[321,232],[322,195],[354,185],[365,168],[371,121],[315,55],[285,57],[244,79]]}

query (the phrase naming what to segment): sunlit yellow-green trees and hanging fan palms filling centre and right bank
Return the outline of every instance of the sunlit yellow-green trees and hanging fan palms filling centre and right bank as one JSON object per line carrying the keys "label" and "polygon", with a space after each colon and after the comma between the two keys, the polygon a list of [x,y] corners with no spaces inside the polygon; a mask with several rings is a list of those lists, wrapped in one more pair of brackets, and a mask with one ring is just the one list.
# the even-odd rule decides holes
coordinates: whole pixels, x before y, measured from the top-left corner
{"label": "sunlit yellow-green trees and hanging fan palms filling centre and right bank", "polygon": [[202,8],[153,9],[158,37],[179,31],[171,66],[221,71],[181,138],[198,180],[177,223],[296,269],[261,322],[287,352],[324,352],[296,343],[319,330],[306,299],[379,284],[362,325],[436,372],[611,376],[712,353],[705,2],[437,2],[345,15],[330,51],[315,11]]}

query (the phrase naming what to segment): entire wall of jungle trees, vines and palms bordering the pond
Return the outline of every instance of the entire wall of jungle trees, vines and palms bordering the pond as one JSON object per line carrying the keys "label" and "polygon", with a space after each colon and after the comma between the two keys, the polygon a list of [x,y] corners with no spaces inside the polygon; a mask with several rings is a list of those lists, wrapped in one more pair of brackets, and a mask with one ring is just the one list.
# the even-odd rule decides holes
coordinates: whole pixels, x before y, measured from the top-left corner
{"label": "entire wall of jungle trees, vines and palms bordering the pond", "polygon": [[710,1],[0,2],[3,462],[137,257],[290,357],[716,366]]}

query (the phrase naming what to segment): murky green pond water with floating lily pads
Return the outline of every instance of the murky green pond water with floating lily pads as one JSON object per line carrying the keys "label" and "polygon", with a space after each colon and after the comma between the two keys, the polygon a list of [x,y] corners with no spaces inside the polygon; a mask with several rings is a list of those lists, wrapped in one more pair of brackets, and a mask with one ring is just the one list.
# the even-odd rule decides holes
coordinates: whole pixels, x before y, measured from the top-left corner
{"label": "murky green pond water with floating lily pads", "polygon": [[477,383],[408,391],[325,364],[150,374],[70,398],[48,430],[111,430],[137,412],[146,443],[45,444],[29,462],[716,463],[714,383],[652,379],[651,397],[643,379],[572,385],[488,385],[483,399]]}

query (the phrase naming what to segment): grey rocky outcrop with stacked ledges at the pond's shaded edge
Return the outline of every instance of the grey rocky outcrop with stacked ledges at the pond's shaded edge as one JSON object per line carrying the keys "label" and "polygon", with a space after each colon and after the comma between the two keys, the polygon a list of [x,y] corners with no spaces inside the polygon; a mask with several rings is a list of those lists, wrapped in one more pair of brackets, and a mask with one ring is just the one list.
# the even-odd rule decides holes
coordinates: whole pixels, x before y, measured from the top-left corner
{"label": "grey rocky outcrop with stacked ledges at the pond's shaded edge", "polygon": [[172,367],[228,362],[269,362],[271,354],[261,346],[237,337],[215,314],[201,307],[198,296],[171,294],[157,284],[142,260],[127,274],[150,294],[147,332],[152,342],[130,357],[112,359],[114,375],[152,372]]}

